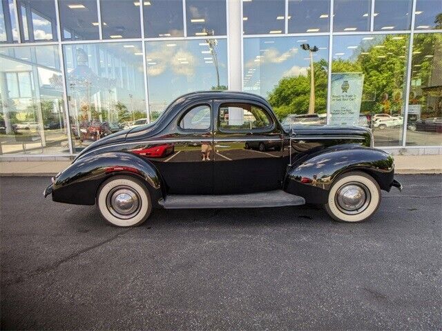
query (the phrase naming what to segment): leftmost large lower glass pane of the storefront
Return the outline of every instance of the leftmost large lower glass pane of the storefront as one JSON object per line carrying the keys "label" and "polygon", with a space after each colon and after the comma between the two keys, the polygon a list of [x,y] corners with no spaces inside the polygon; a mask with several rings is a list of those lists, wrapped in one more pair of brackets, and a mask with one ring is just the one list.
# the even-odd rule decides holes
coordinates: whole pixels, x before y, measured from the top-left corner
{"label": "leftmost large lower glass pane of the storefront", "polygon": [[0,48],[0,154],[69,152],[57,46]]}

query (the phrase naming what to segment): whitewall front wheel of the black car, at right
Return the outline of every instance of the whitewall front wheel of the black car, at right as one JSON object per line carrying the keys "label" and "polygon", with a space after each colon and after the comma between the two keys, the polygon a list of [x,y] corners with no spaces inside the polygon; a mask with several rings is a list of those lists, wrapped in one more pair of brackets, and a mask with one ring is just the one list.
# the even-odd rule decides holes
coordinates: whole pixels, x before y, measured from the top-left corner
{"label": "whitewall front wheel of the black car, at right", "polygon": [[364,172],[347,172],[338,177],[329,190],[325,210],[336,221],[361,222],[376,212],[381,203],[381,189]]}

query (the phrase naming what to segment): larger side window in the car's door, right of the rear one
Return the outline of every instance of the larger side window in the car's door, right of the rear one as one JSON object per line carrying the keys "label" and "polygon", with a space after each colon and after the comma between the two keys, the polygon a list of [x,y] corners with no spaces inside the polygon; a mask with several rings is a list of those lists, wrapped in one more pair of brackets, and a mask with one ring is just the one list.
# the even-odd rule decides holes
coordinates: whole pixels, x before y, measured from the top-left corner
{"label": "larger side window in the car's door, right of the rear one", "polygon": [[265,110],[249,103],[222,103],[219,126],[224,130],[253,130],[268,128],[271,119]]}

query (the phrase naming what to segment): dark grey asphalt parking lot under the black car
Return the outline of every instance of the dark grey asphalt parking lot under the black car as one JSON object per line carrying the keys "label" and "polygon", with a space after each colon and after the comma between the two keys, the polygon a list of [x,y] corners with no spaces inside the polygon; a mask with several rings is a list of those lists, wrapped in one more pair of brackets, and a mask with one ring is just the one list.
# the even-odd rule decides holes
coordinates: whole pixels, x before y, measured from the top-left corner
{"label": "dark grey asphalt parking lot under the black car", "polygon": [[366,223],[305,206],[120,229],[2,177],[1,329],[441,330],[442,176],[397,179]]}

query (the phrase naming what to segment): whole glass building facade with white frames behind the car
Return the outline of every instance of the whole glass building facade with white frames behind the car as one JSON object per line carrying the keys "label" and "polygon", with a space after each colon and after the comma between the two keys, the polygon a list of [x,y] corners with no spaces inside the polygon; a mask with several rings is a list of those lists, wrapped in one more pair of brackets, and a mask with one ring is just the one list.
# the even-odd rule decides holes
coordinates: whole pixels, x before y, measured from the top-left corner
{"label": "whole glass building facade with white frames behind the car", "polygon": [[72,156],[227,89],[441,150],[442,1],[1,0],[0,158]]}

